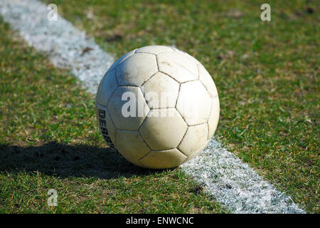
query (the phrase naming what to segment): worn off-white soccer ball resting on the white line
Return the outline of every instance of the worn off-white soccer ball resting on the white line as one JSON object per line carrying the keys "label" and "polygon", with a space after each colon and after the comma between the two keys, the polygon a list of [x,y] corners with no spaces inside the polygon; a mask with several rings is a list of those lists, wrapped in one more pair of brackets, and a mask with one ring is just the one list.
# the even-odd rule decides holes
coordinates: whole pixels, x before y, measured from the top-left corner
{"label": "worn off-white soccer ball resting on the white line", "polygon": [[100,82],[97,122],[134,165],[177,167],[198,155],[218,125],[218,92],[206,68],[176,48],[145,46],[119,58]]}

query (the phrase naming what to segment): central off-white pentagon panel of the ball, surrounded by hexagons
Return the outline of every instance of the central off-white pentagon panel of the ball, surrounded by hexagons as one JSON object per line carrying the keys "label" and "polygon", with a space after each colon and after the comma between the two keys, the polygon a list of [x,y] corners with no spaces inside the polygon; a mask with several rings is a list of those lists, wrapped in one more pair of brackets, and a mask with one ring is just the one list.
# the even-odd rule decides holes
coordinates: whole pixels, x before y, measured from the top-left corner
{"label": "central off-white pentagon panel of the ball, surrounded by hexagons", "polygon": [[179,84],[164,73],[158,72],[144,83],[142,91],[149,108],[174,108]]}

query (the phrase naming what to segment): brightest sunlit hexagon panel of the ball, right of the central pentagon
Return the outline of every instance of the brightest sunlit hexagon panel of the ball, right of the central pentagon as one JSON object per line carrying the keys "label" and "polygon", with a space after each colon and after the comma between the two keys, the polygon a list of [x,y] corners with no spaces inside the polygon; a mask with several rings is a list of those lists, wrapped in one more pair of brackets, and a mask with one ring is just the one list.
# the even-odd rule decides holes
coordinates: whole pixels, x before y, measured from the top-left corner
{"label": "brightest sunlit hexagon panel of the ball, right of the central pentagon", "polygon": [[210,115],[211,100],[200,81],[190,81],[181,84],[176,108],[188,125],[206,123]]}

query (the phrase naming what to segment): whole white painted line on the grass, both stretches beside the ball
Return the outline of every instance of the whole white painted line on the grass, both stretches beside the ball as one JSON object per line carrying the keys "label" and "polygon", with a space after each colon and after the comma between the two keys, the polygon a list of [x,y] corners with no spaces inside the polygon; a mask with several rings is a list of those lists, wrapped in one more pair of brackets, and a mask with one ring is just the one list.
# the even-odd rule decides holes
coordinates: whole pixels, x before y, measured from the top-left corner
{"label": "whole white painted line on the grass, both stretches beside the ball", "polygon": [[[91,93],[114,58],[85,32],[58,16],[48,21],[46,5],[37,0],[1,0],[0,14],[30,46],[48,54],[59,68],[70,68]],[[91,51],[83,53],[85,48]],[[124,53],[127,50],[124,50]],[[304,213],[290,197],[243,164],[214,139],[196,158],[181,168],[200,182],[209,195],[235,213]]]}

